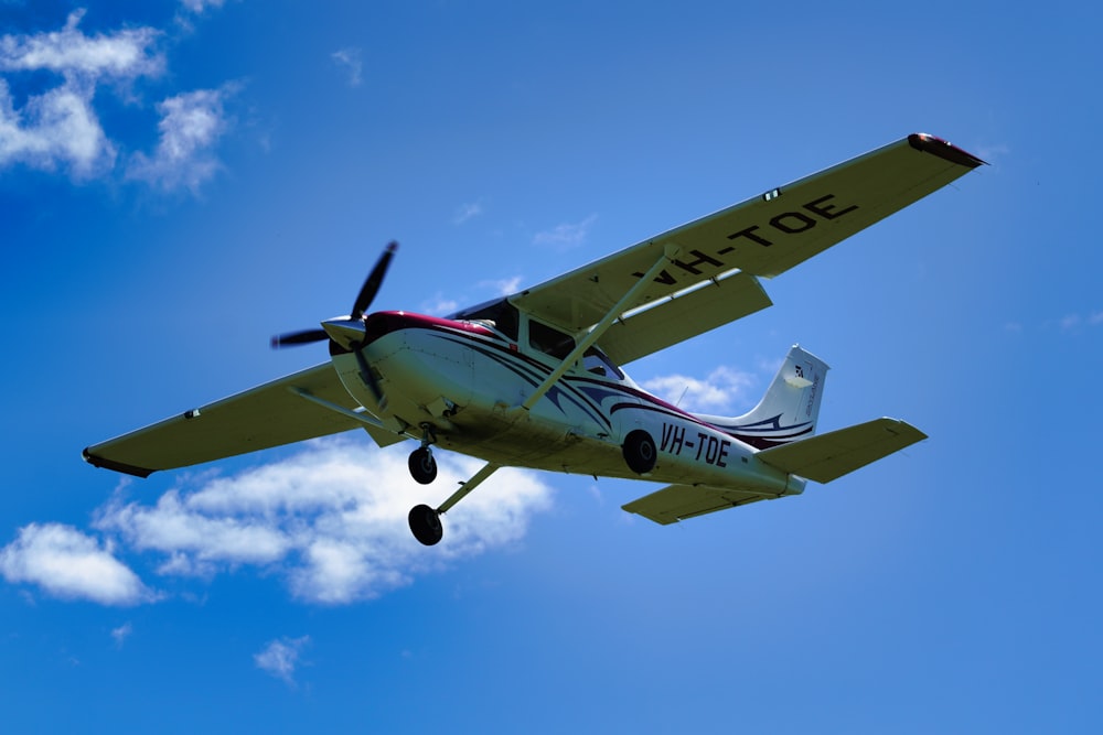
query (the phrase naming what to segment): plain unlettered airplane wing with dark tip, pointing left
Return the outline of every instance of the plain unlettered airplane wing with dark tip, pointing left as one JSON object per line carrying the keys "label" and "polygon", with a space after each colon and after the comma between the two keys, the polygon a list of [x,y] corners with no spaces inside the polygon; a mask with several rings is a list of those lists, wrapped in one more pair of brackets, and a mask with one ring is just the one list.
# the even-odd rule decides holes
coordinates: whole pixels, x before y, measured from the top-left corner
{"label": "plain unlettered airplane wing with dark tip, pointing left", "polygon": [[[323,408],[299,393],[335,408]],[[384,446],[405,439],[382,425],[371,425],[372,417],[357,413],[357,408],[333,366],[323,363],[89,446],[84,458],[97,467],[148,477],[158,469],[186,467],[350,429],[367,430]]]}

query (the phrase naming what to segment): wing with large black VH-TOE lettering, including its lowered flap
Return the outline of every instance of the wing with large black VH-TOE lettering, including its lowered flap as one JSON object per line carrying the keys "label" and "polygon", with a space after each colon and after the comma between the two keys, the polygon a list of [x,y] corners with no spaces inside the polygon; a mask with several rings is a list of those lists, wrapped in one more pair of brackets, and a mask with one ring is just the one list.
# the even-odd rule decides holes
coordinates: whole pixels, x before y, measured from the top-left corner
{"label": "wing with large black VH-TOE lettering, including its lowered flap", "polygon": [[[579,333],[597,324],[663,255],[681,252],[624,310],[647,304],[677,312],[623,318],[600,344],[627,363],[763,309],[754,277],[773,278],[984,163],[933,136],[917,133],[817,174],[656,235],[512,296],[520,309]],[[698,288],[741,273],[719,291]],[[758,292],[756,292],[758,287]],[[672,298],[673,296],[673,298]],[[679,296],[684,300],[679,303]],[[655,323],[662,323],[656,329]],[[641,346],[622,348],[634,339]],[[619,343],[613,349],[609,344]],[[646,350],[646,352],[644,352]]]}

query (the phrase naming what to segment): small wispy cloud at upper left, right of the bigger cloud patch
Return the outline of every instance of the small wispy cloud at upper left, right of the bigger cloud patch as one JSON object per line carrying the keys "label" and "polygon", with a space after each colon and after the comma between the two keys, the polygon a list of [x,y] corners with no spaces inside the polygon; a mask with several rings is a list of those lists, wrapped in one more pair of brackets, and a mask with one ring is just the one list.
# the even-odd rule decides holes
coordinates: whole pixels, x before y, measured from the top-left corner
{"label": "small wispy cloud at upper left, right of the bigger cloud patch", "polygon": [[228,123],[224,105],[236,91],[234,84],[219,89],[199,89],[170,97],[157,106],[160,141],[152,158],[136,153],[127,177],[164,190],[186,186],[193,192],[222,167],[212,152]]}

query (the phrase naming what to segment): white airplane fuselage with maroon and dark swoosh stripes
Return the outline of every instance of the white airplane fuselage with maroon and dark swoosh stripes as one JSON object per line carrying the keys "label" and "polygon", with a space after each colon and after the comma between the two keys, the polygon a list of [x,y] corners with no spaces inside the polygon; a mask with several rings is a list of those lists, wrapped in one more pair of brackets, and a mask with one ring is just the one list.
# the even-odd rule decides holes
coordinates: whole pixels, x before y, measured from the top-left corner
{"label": "white airplane fuselage with maroon and dark swoosh stripes", "polygon": [[[383,312],[368,317],[363,355],[386,399],[381,407],[355,355],[333,349],[349,392],[395,432],[503,466],[640,478],[622,456],[633,430],[658,450],[644,478],[792,495],[804,482],[770,467],[757,451],[636,387],[614,366],[572,366],[531,410],[521,404],[559,365],[485,324]],[[603,375],[602,375],[603,374]]]}

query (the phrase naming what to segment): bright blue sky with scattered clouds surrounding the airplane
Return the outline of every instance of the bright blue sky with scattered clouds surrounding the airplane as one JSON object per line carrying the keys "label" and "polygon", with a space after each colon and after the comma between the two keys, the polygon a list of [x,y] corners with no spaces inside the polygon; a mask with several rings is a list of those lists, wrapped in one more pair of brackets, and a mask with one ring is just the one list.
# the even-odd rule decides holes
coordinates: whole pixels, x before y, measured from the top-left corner
{"label": "bright blue sky with scattered clouds surrounding the airplane", "polygon": [[[0,1],[4,732],[1097,732],[1100,11],[595,4]],[[919,131],[990,165],[629,368],[737,414],[800,342],[930,434],[829,487],[503,472],[424,549],[405,445],[81,461],[321,361],[392,238],[445,313]]]}

